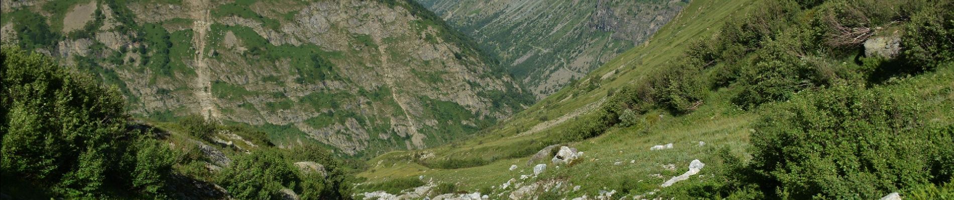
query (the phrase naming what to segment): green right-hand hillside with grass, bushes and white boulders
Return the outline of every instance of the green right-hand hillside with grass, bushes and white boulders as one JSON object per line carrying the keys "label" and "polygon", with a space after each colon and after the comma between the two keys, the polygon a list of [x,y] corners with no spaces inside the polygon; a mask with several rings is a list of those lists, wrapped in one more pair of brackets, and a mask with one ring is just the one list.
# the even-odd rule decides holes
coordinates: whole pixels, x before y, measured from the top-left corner
{"label": "green right-hand hillside with grass, bushes and white boulders", "polygon": [[[391,187],[359,193],[950,199],[952,8],[694,0],[645,45],[486,134],[369,160],[364,185]],[[406,179],[426,183],[395,184]]]}

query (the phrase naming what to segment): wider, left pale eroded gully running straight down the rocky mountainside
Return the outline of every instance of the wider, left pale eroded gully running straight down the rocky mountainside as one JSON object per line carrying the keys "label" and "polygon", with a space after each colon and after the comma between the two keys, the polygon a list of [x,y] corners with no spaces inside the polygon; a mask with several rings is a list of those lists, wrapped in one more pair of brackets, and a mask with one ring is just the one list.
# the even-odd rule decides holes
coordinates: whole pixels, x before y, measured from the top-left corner
{"label": "wider, left pale eroded gully running straight down the rocky mountainside", "polygon": [[198,99],[199,108],[201,109],[200,113],[205,118],[220,118],[221,114],[212,101],[214,100],[211,91],[212,82],[209,80],[211,70],[209,69],[209,65],[205,62],[206,34],[209,31],[209,26],[212,24],[209,15],[209,0],[187,0],[185,4],[186,7],[189,8],[189,15],[193,19],[192,30],[194,34],[192,44],[196,46],[196,57],[193,62],[193,64],[195,64],[193,67],[196,69],[196,81],[193,82],[193,88],[195,89],[196,99]]}

